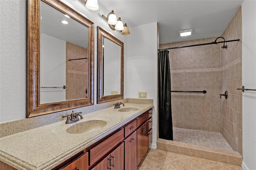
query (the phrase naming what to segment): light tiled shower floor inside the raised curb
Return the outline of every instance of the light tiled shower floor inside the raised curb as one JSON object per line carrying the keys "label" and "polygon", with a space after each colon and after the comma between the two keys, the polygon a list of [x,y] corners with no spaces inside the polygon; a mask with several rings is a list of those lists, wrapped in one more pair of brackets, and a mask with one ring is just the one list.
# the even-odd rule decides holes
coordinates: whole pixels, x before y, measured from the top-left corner
{"label": "light tiled shower floor inside the raised curb", "polygon": [[173,127],[173,140],[233,151],[226,139],[219,132]]}

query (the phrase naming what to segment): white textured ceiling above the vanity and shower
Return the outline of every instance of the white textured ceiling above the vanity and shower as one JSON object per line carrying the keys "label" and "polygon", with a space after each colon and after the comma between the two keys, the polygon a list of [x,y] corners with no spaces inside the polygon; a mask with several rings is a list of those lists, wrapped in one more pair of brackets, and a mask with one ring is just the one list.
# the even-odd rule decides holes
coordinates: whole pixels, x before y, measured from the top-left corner
{"label": "white textured ceiling above the vanity and shower", "polygon": [[[221,36],[243,0],[98,0],[128,27],[158,22],[160,43]],[[104,14],[107,16],[108,14]],[[180,37],[179,31],[193,29]],[[132,34],[132,32],[131,32]]]}

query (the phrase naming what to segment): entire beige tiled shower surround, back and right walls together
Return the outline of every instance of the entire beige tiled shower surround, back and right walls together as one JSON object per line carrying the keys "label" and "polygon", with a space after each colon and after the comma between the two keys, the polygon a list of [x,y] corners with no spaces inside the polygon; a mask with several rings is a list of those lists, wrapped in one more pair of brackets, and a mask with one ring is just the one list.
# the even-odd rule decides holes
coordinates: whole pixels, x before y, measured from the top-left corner
{"label": "entire beige tiled shower surround, back and right walls together", "polygon": [[[238,9],[222,34],[222,44],[169,49],[173,127],[221,132],[242,155],[242,17]],[[159,48],[213,42],[217,37],[160,44]],[[222,39],[218,39],[222,41]],[[228,91],[228,99],[220,93]]]}

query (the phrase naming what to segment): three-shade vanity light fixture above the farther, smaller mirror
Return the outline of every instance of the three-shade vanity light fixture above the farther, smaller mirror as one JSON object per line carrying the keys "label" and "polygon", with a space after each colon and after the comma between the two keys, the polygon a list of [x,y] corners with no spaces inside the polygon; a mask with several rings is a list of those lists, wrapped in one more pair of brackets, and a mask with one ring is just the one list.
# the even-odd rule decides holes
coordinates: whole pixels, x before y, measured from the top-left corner
{"label": "three-shade vanity light fixture above the farther, smaller mirror", "polygon": [[122,35],[130,34],[126,23],[123,24],[120,17],[117,19],[113,10],[108,14],[107,17],[102,15],[102,18],[104,18],[108,22],[108,26],[111,28],[111,30],[118,30],[122,33]]}

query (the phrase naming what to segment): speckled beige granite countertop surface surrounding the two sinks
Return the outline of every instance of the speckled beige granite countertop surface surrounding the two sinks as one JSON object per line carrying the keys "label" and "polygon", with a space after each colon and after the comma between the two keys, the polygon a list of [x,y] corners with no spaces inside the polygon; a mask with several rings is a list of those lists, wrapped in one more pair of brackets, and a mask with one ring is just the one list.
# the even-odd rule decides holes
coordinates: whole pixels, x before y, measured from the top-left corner
{"label": "speckled beige granite countertop surface surrounding the two sinks", "polygon": [[[120,112],[111,107],[82,115],[84,119],[76,123],[61,121],[0,138],[0,160],[18,170],[50,170],[153,107],[151,104],[124,104],[138,111]],[[66,132],[72,125],[95,119],[107,124],[80,134]]]}

